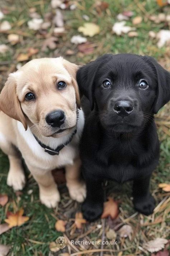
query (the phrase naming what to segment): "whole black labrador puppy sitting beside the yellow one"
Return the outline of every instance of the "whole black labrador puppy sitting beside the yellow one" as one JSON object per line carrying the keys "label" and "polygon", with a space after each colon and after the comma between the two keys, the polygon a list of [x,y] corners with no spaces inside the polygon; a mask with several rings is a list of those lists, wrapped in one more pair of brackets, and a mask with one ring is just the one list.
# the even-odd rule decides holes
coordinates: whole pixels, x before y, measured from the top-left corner
{"label": "whole black labrador puppy sitting beside the yellow one", "polygon": [[155,200],[149,183],[159,162],[154,113],[170,100],[170,73],[152,57],[105,54],[81,67],[77,82],[91,107],[80,146],[84,218],[100,217],[105,179],[133,180],[134,208],[151,214]]}

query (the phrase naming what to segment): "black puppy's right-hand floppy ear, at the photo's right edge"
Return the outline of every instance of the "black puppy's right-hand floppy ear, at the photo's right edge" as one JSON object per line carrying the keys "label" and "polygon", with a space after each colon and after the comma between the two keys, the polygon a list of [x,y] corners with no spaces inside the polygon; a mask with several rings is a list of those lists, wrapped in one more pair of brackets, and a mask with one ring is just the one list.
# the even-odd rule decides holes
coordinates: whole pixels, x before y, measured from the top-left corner
{"label": "black puppy's right-hand floppy ear, at the photo's right edge", "polygon": [[143,59],[154,68],[157,76],[157,93],[153,108],[156,114],[170,100],[170,72],[162,68],[152,57],[144,56]]}

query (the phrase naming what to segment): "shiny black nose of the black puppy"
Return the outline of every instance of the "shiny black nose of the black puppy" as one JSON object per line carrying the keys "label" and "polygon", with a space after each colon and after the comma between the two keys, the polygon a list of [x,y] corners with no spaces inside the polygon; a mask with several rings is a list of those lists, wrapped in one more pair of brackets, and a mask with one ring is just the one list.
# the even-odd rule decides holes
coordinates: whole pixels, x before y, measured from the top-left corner
{"label": "shiny black nose of the black puppy", "polygon": [[133,105],[128,100],[119,100],[114,104],[113,110],[120,116],[128,116],[133,111]]}

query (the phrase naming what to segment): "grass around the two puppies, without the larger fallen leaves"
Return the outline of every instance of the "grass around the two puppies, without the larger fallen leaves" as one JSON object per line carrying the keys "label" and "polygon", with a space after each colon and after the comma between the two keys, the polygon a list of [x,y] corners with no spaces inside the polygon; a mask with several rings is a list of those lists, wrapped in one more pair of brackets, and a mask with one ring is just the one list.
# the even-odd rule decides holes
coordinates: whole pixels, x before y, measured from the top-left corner
{"label": "grass around the two puppies, without the larger fallen leaves", "polygon": [[[20,43],[10,46],[7,40],[7,33],[1,33],[0,43],[10,46],[10,50],[6,54],[0,54],[0,88],[3,87],[4,82],[10,72],[16,70],[17,56],[19,53],[27,52],[28,48],[38,48],[38,54],[31,58],[40,57],[58,57],[62,55],[68,60],[75,63],[87,63],[92,59],[95,59],[99,55],[104,53],[134,53],[141,55],[152,55],[159,60],[167,69],[170,69],[169,50],[168,47],[157,48],[156,39],[150,39],[148,36],[149,31],[158,32],[160,29],[168,29],[168,25],[165,23],[155,24],[151,22],[148,17],[152,14],[159,14],[160,12],[168,13],[170,8],[160,8],[155,0],[145,1],[131,1],[120,0],[112,1],[107,0],[109,3],[108,10],[96,11],[95,1],[77,1],[77,8],[73,11],[63,10],[65,19],[66,34],[59,37],[57,48],[55,50],[41,51],[41,47],[44,41],[44,36],[35,31],[30,31],[27,26],[29,18],[29,8],[36,8],[37,12],[44,18],[44,14],[53,12],[51,9],[49,0],[16,0],[15,3],[12,0],[1,0],[1,8],[9,11],[5,15],[4,20],[8,20],[12,29],[9,33],[17,33],[20,35]],[[123,11],[133,11],[133,17],[139,15],[143,17],[141,24],[137,25],[138,37],[129,38],[128,35],[116,36],[112,33],[112,26],[117,21],[117,14]],[[92,54],[83,54],[77,50],[77,47],[70,43],[70,39],[73,35],[80,34],[77,32],[77,28],[85,21],[82,15],[89,16],[89,22],[94,22],[100,26],[100,34],[92,38],[88,38],[88,41],[95,44],[95,49]],[[133,18],[132,17],[132,18]],[[127,25],[132,25],[132,18],[127,21]],[[51,36],[51,29],[48,29],[48,35]],[[67,55],[66,51],[71,49],[74,51],[73,55]],[[154,171],[151,179],[152,194],[156,199],[156,203],[160,203],[162,200],[168,198],[169,193],[162,192],[158,188],[159,183],[169,182],[170,172],[170,104],[167,104],[157,114],[156,121],[158,127],[159,138],[161,141],[161,154],[160,163],[157,169]],[[165,123],[166,121],[166,123]],[[75,212],[80,209],[80,205],[72,202],[67,190],[61,187],[62,200],[59,206],[59,210],[48,209],[41,205],[38,197],[38,186],[33,178],[26,171],[27,185],[23,189],[22,194],[16,195],[11,188],[6,185],[6,178],[9,170],[8,158],[4,153],[0,152],[0,194],[8,194],[9,202],[5,207],[0,207],[0,223],[4,223],[6,218],[6,212],[17,211],[20,207],[24,208],[24,214],[29,216],[29,221],[23,226],[15,227],[4,233],[0,237],[1,244],[10,244],[10,255],[48,255],[49,243],[55,241],[55,239],[61,235],[55,230],[56,219],[67,219],[66,235],[69,239],[76,239],[81,234],[86,233],[89,229],[93,228],[90,234],[85,236],[85,239],[102,239],[102,230],[107,232],[109,226],[115,228],[117,225],[130,224],[133,227],[134,234],[133,239],[124,239],[117,237],[118,246],[105,246],[104,248],[116,250],[114,255],[149,255],[146,251],[142,250],[142,244],[145,241],[154,239],[156,237],[164,237],[170,239],[170,225],[169,220],[169,205],[168,199],[165,203],[158,207],[157,212],[152,216],[143,216],[141,214],[135,214],[132,201],[131,201],[131,184],[118,185],[108,183],[105,187],[106,193],[114,196],[115,199],[120,201],[120,215],[116,221],[110,219],[106,221],[99,220],[92,224],[84,225],[82,230],[75,230],[72,227],[75,216]],[[30,190],[33,190],[29,194]],[[68,207],[65,208],[65,205]],[[132,218],[129,216],[132,215]],[[157,218],[161,218],[159,223],[154,224]],[[101,230],[97,228],[98,224],[102,225]],[[115,229],[116,230],[116,229]],[[117,230],[116,230],[117,231]],[[69,248],[69,253],[75,252],[72,247]],[[98,247],[100,248],[100,246]],[[129,248],[129,249],[128,249]],[[77,247],[77,250],[85,250],[87,248]],[[94,246],[89,246],[88,250],[95,249]],[[67,252],[63,249],[62,252]],[[58,255],[57,252],[55,255]],[[106,253],[106,252],[104,252]],[[85,253],[84,255],[87,255]],[[99,253],[88,253],[88,255],[99,255]],[[110,255],[110,254],[109,254]],[[111,254],[113,255],[113,253]]]}

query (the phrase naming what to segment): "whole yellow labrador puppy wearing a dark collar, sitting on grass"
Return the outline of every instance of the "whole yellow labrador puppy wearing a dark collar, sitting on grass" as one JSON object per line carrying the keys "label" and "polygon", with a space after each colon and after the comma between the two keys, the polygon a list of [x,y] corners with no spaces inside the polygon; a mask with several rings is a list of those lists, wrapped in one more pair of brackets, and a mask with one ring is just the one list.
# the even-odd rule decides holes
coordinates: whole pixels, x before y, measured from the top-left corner
{"label": "whole yellow labrador puppy wearing a dark collar, sitting on grass", "polygon": [[79,141],[84,126],[76,77],[77,66],[60,58],[34,59],[8,77],[0,94],[0,148],[8,155],[7,184],[25,185],[21,155],[39,186],[47,207],[60,194],[51,174],[65,167],[72,199],[82,202]]}

